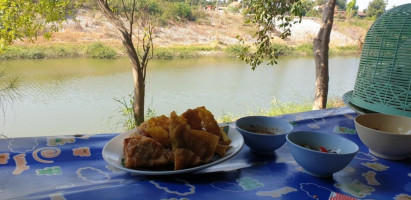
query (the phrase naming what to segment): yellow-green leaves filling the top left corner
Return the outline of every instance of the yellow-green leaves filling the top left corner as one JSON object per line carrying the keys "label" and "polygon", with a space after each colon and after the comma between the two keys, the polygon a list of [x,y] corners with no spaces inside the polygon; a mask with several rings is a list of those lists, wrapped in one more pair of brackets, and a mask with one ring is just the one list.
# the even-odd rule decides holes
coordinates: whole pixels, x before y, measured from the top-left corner
{"label": "yellow-green leaves filling the top left corner", "polygon": [[0,0],[0,51],[17,39],[33,41],[40,33],[49,38],[72,13],[72,2]]}

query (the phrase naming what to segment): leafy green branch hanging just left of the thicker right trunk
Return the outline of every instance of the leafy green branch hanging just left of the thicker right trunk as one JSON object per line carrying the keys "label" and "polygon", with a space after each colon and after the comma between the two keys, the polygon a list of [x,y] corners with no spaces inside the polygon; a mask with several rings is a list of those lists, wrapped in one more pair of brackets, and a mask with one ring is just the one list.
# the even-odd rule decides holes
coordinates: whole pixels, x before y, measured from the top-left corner
{"label": "leafy green branch hanging just left of the thicker right trunk", "polygon": [[[272,32],[277,27],[281,30],[281,38],[291,35],[291,26],[301,22],[303,7],[299,0],[280,0],[276,3],[265,0],[252,0],[246,12],[251,18],[246,23],[255,24],[258,28],[253,46],[244,45],[244,39],[240,41],[244,48],[240,51],[239,58],[251,65],[254,70],[258,65],[268,60],[268,64],[277,63],[279,52],[272,43]],[[294,21],[294,16],[299,20]],[[276,24],[279,22],[279,24]],[[239,37],[238,37],[239,38]]]}

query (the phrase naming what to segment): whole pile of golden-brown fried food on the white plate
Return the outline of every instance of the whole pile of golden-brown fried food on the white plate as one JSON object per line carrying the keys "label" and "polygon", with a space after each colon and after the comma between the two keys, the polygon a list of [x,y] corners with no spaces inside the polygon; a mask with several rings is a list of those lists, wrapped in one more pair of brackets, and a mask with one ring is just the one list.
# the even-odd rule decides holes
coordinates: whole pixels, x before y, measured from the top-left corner
{"label": "whole pile of golden-brown fried food on the white plate", "polygon": [[124,140],[128,168],[174,170],[194,167],[223,157],[231,143],[204,106],[188,109],[181,116],[171,112],[142,123]]}

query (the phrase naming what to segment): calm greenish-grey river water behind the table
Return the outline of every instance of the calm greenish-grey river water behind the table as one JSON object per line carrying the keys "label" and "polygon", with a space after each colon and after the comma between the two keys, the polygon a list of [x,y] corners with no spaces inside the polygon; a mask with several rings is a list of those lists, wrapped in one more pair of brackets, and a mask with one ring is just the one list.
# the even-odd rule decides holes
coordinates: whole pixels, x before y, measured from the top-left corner
{"label": "calm greenish-grey river water behind the table", "polygon": [[[358,57],[329,60],[329,97],[354,87]],[[0,133],[8,137],[121,132],[115,99],[132,93],[128,59],[14,60],[0,63],[8,77],[18,77],[19,97],[1,105]],[[281,102],[312,101],[312,57],[282,57],[278,65],[251,70],[228,58],[151,60],[146,80],[146,109],[168,115],[206,106],[216,118],[246,115]]]}

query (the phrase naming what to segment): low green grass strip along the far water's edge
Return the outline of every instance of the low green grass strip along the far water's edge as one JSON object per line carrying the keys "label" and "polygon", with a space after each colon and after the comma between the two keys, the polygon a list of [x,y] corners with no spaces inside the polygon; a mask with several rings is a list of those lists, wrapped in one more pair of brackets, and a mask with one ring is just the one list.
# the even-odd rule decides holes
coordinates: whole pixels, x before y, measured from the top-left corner
{"label": "low green grass strip along the far water's edge", "polygon": [[[280,56],[312,56],[312,44],[287,46],[275,44]],[[240,51],[239,45],[187,45],[157,47],[154,49],[155,59],[184,59],[196,58],[205,55],[221,55],[235,57]],[[331,47],[330,56],[357,55],[356,45]],[[0,60],[10,59],[51,59],[89,57],[100,59],[115,59],[126,56],[124,48],[116,45],[91,43],[91,44],[54,44],[54,45],[14,45],[7,47],[0,54]]]}

